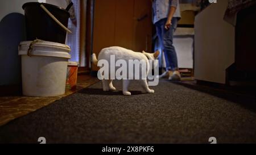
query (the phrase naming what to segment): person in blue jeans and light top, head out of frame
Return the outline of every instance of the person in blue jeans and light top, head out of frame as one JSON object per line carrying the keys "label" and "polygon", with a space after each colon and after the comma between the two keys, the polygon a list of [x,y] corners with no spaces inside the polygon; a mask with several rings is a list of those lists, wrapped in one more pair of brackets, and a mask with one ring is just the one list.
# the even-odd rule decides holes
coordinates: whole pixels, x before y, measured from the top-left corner
{"label": "person in blue jeans and light top, head out of frame", "polygon": [[153,0],[152,9],[153,23],[166,59],[166,72],[160,78],[167,76],[170,80],[180,80],[177,55],[172,45],[174,31],[181,18],[179,0]]}

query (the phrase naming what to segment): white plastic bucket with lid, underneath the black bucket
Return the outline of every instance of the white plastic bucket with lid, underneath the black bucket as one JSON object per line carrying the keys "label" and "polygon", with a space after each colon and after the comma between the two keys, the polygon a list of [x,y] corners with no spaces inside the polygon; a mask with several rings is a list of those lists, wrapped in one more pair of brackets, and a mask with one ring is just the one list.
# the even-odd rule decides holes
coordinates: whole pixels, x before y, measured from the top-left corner
{"label": "white plastic bucket with lid, underneath the black bucket", "polygon": [[64,94],[70,51],[68,45],[60,43],[21,42],[23,95],[51,97]]}

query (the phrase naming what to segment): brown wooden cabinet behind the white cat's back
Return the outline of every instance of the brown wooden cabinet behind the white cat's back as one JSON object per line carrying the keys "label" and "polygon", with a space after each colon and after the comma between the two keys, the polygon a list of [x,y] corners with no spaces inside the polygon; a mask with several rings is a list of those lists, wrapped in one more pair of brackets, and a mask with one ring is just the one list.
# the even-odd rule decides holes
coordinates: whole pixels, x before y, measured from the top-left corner
{"label": "brown wooden cabinet behind the white cat's back", "polygon": [[[93,15],[92,51],[120,46],[151,52],[152,22],[150,0],[96,0]],[[98,70],[92,66],[92,70]]]}

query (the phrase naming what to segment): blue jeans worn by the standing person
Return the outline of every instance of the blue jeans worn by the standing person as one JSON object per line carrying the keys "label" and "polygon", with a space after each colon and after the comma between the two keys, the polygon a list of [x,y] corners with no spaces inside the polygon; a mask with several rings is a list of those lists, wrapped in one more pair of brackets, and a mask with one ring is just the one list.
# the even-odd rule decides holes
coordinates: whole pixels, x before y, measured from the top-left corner
{"label": "blue jeans worn by the standing person", "polygon": [[166,70],[177,70],[177,54],[174,45],[172,45],[174,31],[177,27],[177,18],[172,18],[172,26],[169,30],[164,28],[166,20],[167,18],[164,18],[155,23],[156,33],[164,51],[164,57],[166,59]]}

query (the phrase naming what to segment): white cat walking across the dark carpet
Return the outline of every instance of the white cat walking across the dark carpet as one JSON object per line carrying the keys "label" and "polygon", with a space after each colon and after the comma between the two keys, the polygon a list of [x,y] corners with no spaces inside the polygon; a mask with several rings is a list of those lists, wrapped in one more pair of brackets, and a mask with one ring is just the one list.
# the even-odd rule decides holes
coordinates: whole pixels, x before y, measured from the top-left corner
{"label": "white cat walking across the dark carpet", "polygon": [[[115,62],[117,60],[125,60],[126,62],[128,62],[129,60],[139,60],[139,61],[144,60],[144,61],[146,61],[147,69],[148,68],[151,69],[152,66],[150,66],[148,60],[155,60],[156,58],[158,58],[159,51],[156,51],[155,53],[146,53],[144,51],[143,52],[134,52],[129,49],[122,48],[122,47],[109,47],[109,48],[104,48],[101,50],[101,52],[98,55],[98,60],[96,58],[95,53],[93,53],[92,62],[94,65],[97,65],[98,61],[100,61],[100,60],[106,60],[110,63],[110,56],[113,56],[113,55],[115,56]],[[140,69],[142,69],[141,66],[140,66]],[[110,69],[109,69],[109,72],[110,72]],[[135,72],[135,69],[133,70],[133,72]],[[144,73],[146,73],[145,77],[147,77],[148,70]],[[110,75],[110,73],[109,73],[109,75]],[[133,75],[135,75],[135,73]],[[149,89],[147,79],[142,79],[141,78],[142,74],[140,74],[139,77],[140,77],[139,79],[135,79],[135,80],[140,81],[144,90],[146,90],[147,93],[154,93],[154,90]],[[128,91],[130,80],[131,79],[122,79],[123,95],[131,95],[131,93]],[[113,79],[110,79],[110,78],[102,79],[102,86],[103,86],[104,91],[115,90],[115,87],[113,86],[112,81],[113,81]]]}

